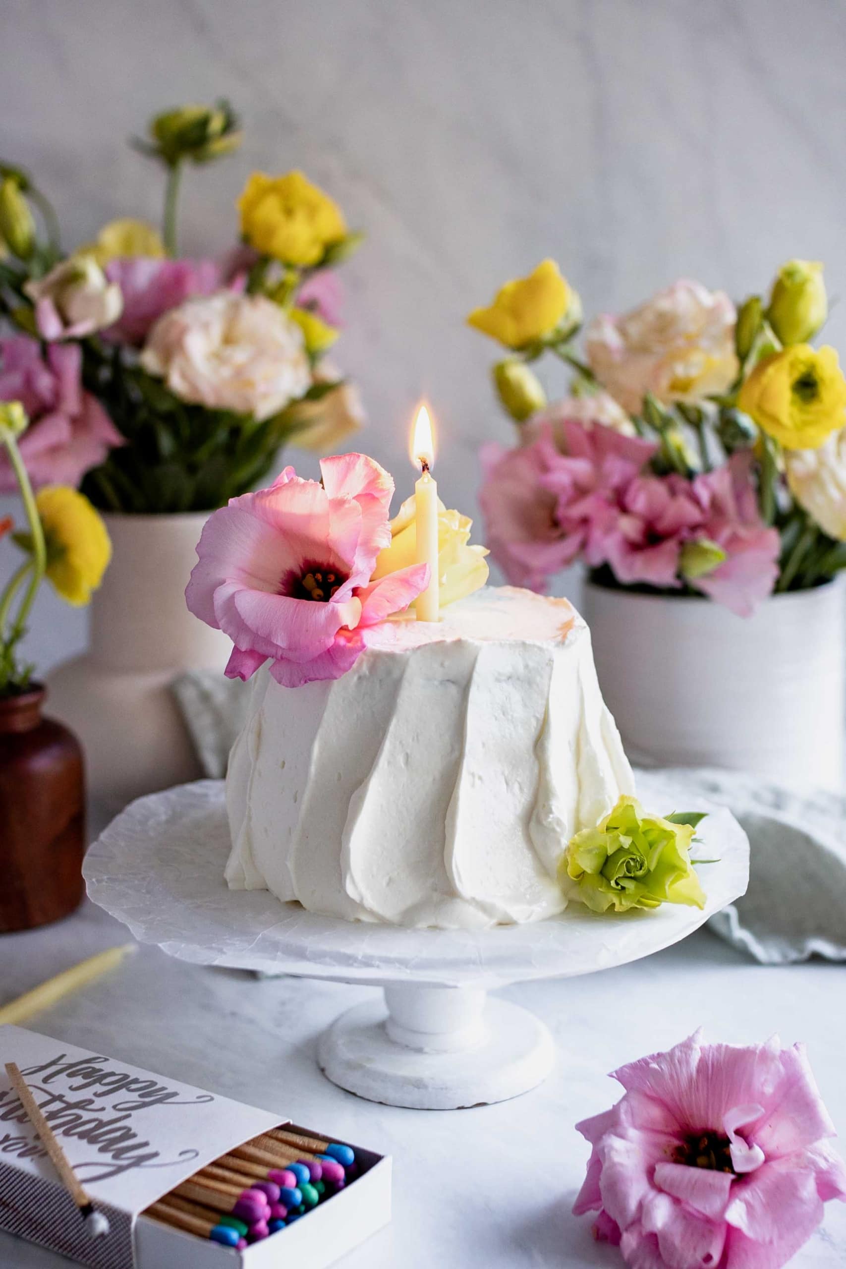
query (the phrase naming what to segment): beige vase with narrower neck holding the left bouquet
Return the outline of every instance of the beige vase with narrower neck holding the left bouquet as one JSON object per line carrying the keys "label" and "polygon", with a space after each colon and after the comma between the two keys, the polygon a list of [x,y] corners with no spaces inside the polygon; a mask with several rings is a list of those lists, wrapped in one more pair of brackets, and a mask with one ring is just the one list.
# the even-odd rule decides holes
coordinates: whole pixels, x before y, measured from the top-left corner
{"label": "beige vase with narrower neck holding the left bouquet", "polygon": [[170,683],[222,670],[231,651],[185,605],[207,514],[104,516],[113,556],[90,650],[47,678],[49,712],[81,740],[89,791],[109,808],[202,774]]}

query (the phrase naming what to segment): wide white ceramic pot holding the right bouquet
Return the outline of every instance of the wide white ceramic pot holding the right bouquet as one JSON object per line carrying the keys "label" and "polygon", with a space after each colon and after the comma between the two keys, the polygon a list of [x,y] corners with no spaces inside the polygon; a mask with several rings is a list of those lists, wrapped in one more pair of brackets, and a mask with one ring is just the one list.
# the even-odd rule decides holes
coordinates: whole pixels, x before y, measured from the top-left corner
{"label": "wide white ceramic pot holding the right bouquet", "polygon": [[705,598],[586,582],[596,671],[629,758],[841,788],[846,605],[840,580],[750,618]]}

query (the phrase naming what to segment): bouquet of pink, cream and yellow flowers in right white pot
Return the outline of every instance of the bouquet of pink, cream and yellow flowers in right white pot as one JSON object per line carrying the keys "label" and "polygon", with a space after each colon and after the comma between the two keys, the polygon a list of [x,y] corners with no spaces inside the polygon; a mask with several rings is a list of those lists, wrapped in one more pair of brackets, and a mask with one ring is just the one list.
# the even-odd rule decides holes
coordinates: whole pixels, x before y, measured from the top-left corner
{"label": "bouquet of pink, cream and yellow flowers in right white pot", "polygon": [[[509,581],[545,589],[583,560],[601,585],[700,593],[748,615],[846,566],[846,379],[810,340],[822,265],[790,260],[739,308],[680,280],[624,316],[582,308],[553,260],[468,322],[519,429],[482,461],[486,539]],[[531,363],[572,373],[549,404]]]}

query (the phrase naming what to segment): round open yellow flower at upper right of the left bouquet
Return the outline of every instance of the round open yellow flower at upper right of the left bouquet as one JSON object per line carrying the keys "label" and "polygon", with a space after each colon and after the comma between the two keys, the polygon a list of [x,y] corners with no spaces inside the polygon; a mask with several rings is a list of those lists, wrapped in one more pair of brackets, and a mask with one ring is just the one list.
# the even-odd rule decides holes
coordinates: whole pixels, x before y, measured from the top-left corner
{"label": "round open yellow flower at upper right of the left bouquet", "polygon": [[301,171],[284,176],[254,171],[237,206],[250,246],[283,264],[317,264],[327,247],[346,236],[337,203]]}

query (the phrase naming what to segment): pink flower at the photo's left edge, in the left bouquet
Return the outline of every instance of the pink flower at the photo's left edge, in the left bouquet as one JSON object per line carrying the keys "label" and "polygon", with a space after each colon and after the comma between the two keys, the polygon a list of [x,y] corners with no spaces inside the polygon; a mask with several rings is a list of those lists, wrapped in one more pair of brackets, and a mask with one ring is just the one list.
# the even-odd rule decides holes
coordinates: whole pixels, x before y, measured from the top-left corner
{"label": "pink flower at the photo's left edge, in the left bouquet", "polygon": [[[20,401],[29,426],[18,442],[29,478],[41,485],[79,485],[109,449],[124,443],[108,414],[81,383],[79,344],[41,344],[28,335],[0,340],[0,401]],[[0,492],[18,487],[9,458],[0,456]]]}

